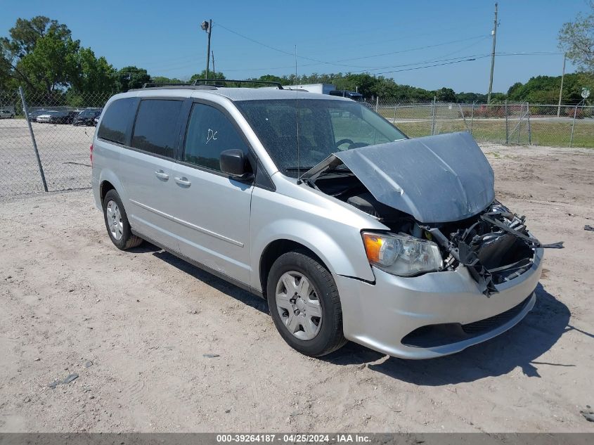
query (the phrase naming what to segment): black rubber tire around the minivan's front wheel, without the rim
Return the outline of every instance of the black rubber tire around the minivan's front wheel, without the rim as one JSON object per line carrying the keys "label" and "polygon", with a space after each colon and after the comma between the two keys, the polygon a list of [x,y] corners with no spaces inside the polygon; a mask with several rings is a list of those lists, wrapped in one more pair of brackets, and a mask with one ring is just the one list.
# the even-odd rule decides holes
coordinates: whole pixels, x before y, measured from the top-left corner
{"label": "black rubber tire around the minivan's front wheel, without the rim", "polygon": [[[291,271],[301,273],[309,280],[320,301],[321,327],[311,340],[300,340],[290,333],[276,306],[277,283],[284,273]],[[269,272],[266,295],[276,329],[283,340],[298,352],[318,357],[330,354],[347,343],[342,332],[340,297],[332,273],[306,250],[288,252],[276,259]]]}

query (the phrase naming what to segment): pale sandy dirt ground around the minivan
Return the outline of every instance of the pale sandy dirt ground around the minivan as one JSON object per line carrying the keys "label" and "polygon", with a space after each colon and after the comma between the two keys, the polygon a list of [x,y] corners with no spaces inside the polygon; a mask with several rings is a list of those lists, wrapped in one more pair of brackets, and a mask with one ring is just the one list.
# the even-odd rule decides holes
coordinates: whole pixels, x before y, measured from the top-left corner
{"label": "pale sandy dirt ground around the minivan", "polygon": [[0,431],[593,432],[594,151],[484,150],[498,198],[566,247],[522,323],[430,361],[299,355],[264,300],[151,245],[116,250],[91,191],[4,198]]}

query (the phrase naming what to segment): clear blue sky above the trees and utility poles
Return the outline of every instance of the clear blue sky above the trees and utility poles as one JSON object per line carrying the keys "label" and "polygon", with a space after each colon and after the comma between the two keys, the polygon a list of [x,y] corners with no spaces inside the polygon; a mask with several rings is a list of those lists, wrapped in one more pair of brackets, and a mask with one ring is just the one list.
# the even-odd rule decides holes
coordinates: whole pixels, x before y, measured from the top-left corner
{"label": "clear blue sky above the trees and utility poles", "polygon": [[[503,53],[559,51],[561,25],[587,10],[586,0],[498,3]],[[1,0],[0,8],[2,35],[19,17],[47,15],[115,67],[136,65],[151,75],[183,78],[203,70],[207,39],[200,22],[212,18],[215,67],[227,78],[295,72],[296,46],[299,74],[368,70],[426,89],[486,92],[489,86],[489,57],[403,70],[489,54],[494,1]],[[561,67],[560,54],[498,56],[493,90],[560,75]]]}

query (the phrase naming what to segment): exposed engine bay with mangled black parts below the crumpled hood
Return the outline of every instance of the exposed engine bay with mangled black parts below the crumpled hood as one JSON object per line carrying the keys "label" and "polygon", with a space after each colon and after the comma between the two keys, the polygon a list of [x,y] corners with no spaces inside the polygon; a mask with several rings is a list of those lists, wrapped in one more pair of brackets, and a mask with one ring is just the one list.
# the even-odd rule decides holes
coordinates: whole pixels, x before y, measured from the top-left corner
{"label": "exposed engine bay with mangled black parts below the crumpled hood", "polygon": [[446,223],[425,223],[379,202],[348,169],[332,169],[308,183],[372,215],[392,233],[436,243],[443,260],[439,270],[452,271],[460,265],[465,266],[487,296],[497,292],[496,285],[528,271],[534,262],[536,248],[562,247],[562,243],[542,245],[529,233],[524,217],[510,212],[497,200],[472,217]]}

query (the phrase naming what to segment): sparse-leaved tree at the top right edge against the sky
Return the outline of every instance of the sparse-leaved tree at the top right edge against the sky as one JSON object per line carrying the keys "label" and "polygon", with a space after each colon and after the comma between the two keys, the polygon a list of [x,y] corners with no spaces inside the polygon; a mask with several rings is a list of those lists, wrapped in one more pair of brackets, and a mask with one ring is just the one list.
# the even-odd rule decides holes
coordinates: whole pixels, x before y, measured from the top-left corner
{"label": "sparse-leaved tree at the top right edge against the sky", "polygon": [[579,13],[574,22],[564,23],[559,31],[559,47],[582,70],[594,72],[594,1],[590,13]]}

